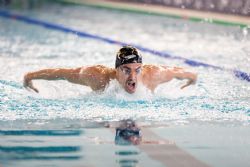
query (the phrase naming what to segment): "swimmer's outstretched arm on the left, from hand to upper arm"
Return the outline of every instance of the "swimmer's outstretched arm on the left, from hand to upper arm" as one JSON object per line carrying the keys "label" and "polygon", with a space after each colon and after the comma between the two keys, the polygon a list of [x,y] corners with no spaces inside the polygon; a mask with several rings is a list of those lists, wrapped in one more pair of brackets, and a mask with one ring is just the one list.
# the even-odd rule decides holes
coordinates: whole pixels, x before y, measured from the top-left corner
{"label": "swimmer's outstretched arm on the left, from hand to upper arm", "polygon": [[82,84],[79,79],[81,68],[74,69],[44,69],[35,72],[27,73],[24,76],[23,85],[26,88],[30,88],[35,92],[39,92],[37,88],[33,86],[32,80],[44,79],[44,80],[68,80],[72,83]]}

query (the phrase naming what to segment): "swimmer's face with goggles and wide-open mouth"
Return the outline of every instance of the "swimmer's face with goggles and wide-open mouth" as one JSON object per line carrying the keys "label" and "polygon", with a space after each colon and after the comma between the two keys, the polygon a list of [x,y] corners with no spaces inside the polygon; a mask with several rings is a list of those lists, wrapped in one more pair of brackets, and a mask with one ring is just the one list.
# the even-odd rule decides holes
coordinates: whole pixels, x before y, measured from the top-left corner
{"label": "swimmer's face with goggles and wide-open mouth", "polygon": [[130,63],[116,68],[116,77],[128,93],[134,93],[137,88],[138,79],[141,77],[142,64]]}

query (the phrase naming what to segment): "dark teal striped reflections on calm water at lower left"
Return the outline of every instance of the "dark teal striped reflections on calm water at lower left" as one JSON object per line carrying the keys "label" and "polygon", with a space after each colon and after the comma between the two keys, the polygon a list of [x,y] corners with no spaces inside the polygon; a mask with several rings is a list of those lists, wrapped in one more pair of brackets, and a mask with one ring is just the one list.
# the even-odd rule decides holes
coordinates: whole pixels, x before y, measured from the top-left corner
{"label": "dark teal striped reflections on calm water at lower left", "polygon": [[[58,145],[47,140],[53,137],[80,136],[82,133],[80,130],[1,130],[0,136],[5,140],[0,145],[0,162],[81,159],[83,157],[77,154],[81,151],[81,146],[75,143]],[[35,140],[36,138],[39,140]]]}

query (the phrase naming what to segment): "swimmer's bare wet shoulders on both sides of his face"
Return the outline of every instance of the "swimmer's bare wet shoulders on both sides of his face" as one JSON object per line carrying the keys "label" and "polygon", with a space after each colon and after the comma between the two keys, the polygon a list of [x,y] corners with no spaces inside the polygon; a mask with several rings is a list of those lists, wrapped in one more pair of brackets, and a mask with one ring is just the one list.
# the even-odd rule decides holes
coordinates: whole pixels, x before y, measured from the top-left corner
{"label": "swimmer's bare wet shoulders on both sides of his face", "polygon": [[[166,75],[166,70],[162,66],[143,65],[138,82],[154,90],[160,83],[171,80],[171,76]],[[116,79],[116,69],[103,65],[82,67],[78,79],[80,84],[89,86],[92,90],[104,90],[111,80]]]}

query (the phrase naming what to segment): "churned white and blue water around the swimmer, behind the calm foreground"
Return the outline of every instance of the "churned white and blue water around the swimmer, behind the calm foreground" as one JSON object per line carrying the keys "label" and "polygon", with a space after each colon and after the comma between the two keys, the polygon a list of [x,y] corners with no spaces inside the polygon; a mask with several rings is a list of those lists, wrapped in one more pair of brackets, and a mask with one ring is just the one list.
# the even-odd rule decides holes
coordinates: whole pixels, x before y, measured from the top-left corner
{"label": "churned white and blue water around the swimmer, behind the calm foreground", "polygon": [[[16,12],[173,55],[250,71],[249,33],[237,27],[86,7],[67,6],[58,10],[50,6],[38,11]],[[154,122],[231,120],[249,123],[249,83],[228,71],[188,67],[178,60],[148,53],[142,53],[145,64],[189,68],[198,73],[197,84],[181,90],[185,81],[173,80],[160,85],[155,93],[139,86],[138,91],[130,95],[116,81],[103,93],[95,93],[66,81],[39,80],[34,81],[34,85],[40,93],[29,92],[22,88],[26,72],[92,64],[113,67],[118,47],[2,18],[0,27],[1,120],[133,118]]]}

